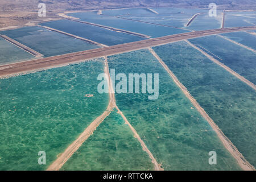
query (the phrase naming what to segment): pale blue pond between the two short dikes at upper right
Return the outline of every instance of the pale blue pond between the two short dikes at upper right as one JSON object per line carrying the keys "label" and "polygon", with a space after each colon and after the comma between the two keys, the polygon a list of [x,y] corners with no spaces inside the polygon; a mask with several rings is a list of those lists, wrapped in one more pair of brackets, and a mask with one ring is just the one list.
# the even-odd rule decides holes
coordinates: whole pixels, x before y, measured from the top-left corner
{"label": "pale blue pond between the two short dikes at upper right", "polygon": [[208,13],[198,15],[189,25],[189,30],[211,30],[221,28],[223,14],[217,11],[216,17],[210,17]]}

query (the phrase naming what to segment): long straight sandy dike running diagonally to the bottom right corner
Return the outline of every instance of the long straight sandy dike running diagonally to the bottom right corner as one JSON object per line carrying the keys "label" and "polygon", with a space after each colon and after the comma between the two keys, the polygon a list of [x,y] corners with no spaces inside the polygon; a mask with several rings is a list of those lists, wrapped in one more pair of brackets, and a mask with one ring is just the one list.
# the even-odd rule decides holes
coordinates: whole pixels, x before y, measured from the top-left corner
{"label": "long straight sandy dike running diagonally to the bottom right corner", "polygon": [[191,96],[191,94],[188,92],[187,88],[181,82],[177,79],[177,77],[172,73],[172,71],[167,67],[167,65],[163,62],[162,59],[155,53],[155,51],[152,48],[149,48],[152,55],[158,59],[160,64],[166,69],[166,71],[170,74],[172,77],[172,80],[174,80],[175,84],[179,86],[179,88],[182,90],[182,92],[185,94],[185,96],[192,102],[192,104],[196,107],[196,109],[199,111],[199,113],[204,117],[209,125],[212,127],[212,129],[216,132],[218,135],[218,138],[220,138],[221,142],[224,144],[225,148],[232,154],[232,156],[237,160],[237,163],[239,166],[246,171],[253,171],[255,170],[253,166],[247,160],[243,157],[243,155],[237,150],[236,146],[224,135],[224,133],[221,131],[221,129],[214,123],[212,118],[209,117],[209,115],[205,112],[203,107],[199,105],[199,103]]}

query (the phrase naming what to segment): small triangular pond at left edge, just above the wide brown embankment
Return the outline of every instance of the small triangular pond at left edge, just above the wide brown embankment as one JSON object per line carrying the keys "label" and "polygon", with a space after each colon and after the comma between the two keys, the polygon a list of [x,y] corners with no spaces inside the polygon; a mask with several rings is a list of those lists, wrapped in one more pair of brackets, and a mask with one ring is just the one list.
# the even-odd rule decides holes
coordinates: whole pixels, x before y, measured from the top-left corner
{"label": "small triangular pond at left edge, just above the wide brown embankment", "polygon": [[33,55],[0,38],[0,65],[34,58]]}

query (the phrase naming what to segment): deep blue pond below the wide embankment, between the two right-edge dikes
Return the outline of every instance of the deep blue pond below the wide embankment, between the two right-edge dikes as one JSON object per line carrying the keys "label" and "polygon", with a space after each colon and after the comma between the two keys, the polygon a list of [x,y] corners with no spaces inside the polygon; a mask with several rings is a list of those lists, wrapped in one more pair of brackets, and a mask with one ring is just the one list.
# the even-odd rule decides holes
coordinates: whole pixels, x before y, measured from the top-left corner
{"label": "deep blue pond below the wide embankment, between the two right-edge dikes", "polygon": [[247,80],[256,84],[256,53],[253,51],[216,35],[191,39],[189,41],[220,57],[218,60],[221,63],[224,63]]}

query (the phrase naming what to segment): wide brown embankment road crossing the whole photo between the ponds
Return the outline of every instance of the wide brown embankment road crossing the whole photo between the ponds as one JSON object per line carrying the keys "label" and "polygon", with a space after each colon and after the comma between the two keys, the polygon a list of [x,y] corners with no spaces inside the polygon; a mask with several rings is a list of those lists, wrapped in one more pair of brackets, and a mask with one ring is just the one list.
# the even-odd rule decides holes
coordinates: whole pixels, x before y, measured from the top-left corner
{"label": "wide brown embankment road crossing the whole photo between the ponds", "polygon": [[[46,57],[37,60],[28,60],[20,63],[6,64],[0,66],[0,78],[14,76],[17,73],[31,72],[40,69],[49,69],[61,67],[72,63],[80,63],[82,61],[93,59],[96,57],[110,56],[123,52],[136,51],[139,49],[160,46],[163,44],[178,42],[180,40],[199,38],[202,36],[223,34],[228,32],[236,32],[243,30],[253,30],[256,27],[235,27],[235,28],[222,28],[216,30],[204,30],[186,32],[183,34],[168,35],[160,38],[146,39],[137,42],[119,44],[115,46],[109,46],[104,48],[90,49],[87,51],[67,53],[64,55]],[[7,67],[8,66],[8,67]],[[5,67],[5,68],[3,68]]]}

